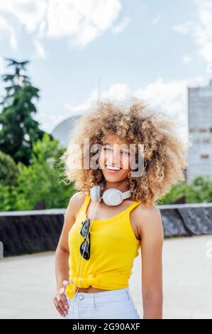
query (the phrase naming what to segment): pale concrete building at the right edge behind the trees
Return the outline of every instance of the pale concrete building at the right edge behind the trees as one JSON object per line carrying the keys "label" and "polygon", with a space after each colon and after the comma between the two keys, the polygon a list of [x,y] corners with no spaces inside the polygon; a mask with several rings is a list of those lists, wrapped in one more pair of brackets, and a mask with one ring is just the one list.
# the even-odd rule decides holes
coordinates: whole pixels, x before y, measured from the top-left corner
{"label": "pale concrete building at the right edge behind the trees", "polygon": [[205,87],[188,87],[189,166],[186,181],[209,175],[212,180],[212,80]]}

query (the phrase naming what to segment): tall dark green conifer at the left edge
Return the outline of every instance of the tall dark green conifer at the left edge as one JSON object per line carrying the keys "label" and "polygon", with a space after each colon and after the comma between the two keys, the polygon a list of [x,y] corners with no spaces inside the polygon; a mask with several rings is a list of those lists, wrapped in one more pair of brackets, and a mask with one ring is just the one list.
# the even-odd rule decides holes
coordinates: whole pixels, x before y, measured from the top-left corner
{"label": "tall dark green conifer at the left edge", "polygon": [[0,102],[0,150],[13,157],[16,163],[30,164],[33,142],[45,133],[39,129],[32,114],[37,112],[34,102],[39,99],[39,90],[26,75],[28,60],[17,62],[6,58],[11,74],[1,75],[6,83],[6,95]]}

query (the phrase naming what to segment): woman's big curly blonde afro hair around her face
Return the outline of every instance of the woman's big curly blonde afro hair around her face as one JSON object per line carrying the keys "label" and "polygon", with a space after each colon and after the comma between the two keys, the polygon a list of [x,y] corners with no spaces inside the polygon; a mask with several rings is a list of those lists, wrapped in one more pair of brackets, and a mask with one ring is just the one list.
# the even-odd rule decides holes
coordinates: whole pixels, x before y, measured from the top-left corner
{"label": "woman's big curly blonde afro hair around her face", "polygon": [[[102,145],[105,136],[116,134],[128,143],[143,144],[143,174],[136,177],[128,174],[128,184],[133,199],[155,204],[172,185],[185,181],[188,143],[179,138],[177,127],[176,119],[164,112],[156,112],[135,98],[130,103],[98,101],[74,126],[69,145],[61,156],[65,163],[65,177],[74,182],[77,190],[89,193],[93,185],[104,180],[104,176],[100,168],[74,167],[74,163],[84,159],[84,138],[89,139],[91,147]],[[89,158],[91,156],[89,152]]]}

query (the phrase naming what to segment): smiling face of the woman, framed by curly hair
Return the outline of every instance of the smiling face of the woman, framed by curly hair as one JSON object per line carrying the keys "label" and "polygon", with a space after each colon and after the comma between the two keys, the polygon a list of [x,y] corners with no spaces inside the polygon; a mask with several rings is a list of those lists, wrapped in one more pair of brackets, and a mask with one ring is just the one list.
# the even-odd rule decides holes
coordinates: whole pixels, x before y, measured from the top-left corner
{"label": "smiling face of the woman, framed by curly hair", "polygon": [[108,135],[99,154],[99,167],[108,182],[120,182],[128,177],[130,145],[116,135]]}

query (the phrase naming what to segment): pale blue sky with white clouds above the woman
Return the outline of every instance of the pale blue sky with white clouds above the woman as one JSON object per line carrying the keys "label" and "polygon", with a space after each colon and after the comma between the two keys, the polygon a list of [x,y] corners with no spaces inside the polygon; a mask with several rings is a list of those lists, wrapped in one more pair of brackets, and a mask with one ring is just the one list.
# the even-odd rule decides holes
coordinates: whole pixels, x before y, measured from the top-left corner
{"label": "pale blue sky with white clouds above the woman", "polygon": [[133,96],[186,131],[186,87],[212,79],[211,27],[210,0],[0,1],[0,72],[4,57],[30,60],[45,131],[98,97]]}

